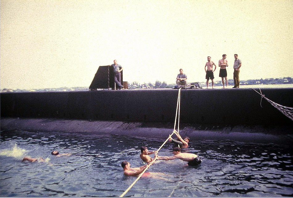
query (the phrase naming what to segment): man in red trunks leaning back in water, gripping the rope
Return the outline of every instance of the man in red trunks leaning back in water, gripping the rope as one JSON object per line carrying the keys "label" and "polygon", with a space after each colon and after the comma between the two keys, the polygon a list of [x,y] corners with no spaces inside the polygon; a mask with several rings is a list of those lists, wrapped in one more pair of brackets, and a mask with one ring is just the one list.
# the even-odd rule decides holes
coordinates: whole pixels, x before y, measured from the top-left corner
{"label": "man in red trunks leaning back in water, gripping the rope", "polygon": [[[130,163],[128,161],[123,161],[121,163],[121,166],[123,168],[123,173],[124,175],[126,176],[138,176],[140,175],[144,169],[146,169],[146,167],[151,164],[148,163],[146,165],[143,165],[141,167],[138,167],[138,168],[130,168]],[[162,180],[168,180],[170,181],[169,179],[166,179],[164,178],[163,176],[167,176],[166,174],[163,174],[163,173],[160,173],[160,172],[144,172],[142,174],[142,177],[146,178],[146,177],[151,177],[151,178],[156,178],[156,179],[162,179]]]}

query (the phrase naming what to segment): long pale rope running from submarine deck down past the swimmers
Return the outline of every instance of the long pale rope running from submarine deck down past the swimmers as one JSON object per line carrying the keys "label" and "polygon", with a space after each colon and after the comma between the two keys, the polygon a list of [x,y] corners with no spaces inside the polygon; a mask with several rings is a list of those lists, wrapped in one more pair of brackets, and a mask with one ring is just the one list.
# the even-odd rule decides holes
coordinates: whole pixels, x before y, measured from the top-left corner
{"label": "long pale rope running from submarine deck down past the swimmers", "polygon": [[[179,117],[180,117],[180,91],[181,88],[178,90],[178,97],[177,97],[177,108],[176,108],[176,116],[175,116],[175,123],[174,123],[174,130],[176,128],[176,121],[177,121],[177,114],[178,114],[178,133],[179,133]],[[164,141],[164,143],[160,146],[160,148],[157,150],[157,152],[159,152],[159,150],[163,147],[163,145],[166,144],[166,142],[169,140],[169,138],[174,134],[174,132],[169,135],[169,137],[167,138],[166,141]],[[134,186],[134,184],[141,178],[141,176],[143,175],[144,172],[146,172],[146,170],[148,168],[150,168],[150,166],[155,162],[156,159],[154,159],[153,161],[151,161],[151,164],[147,165],[146,168],[142,171],[142,173],[140,173],[140,175],[136,178],[136,180],[134,180],[134,182],[119,196],[119,197],[123,197],[129,190],[130,188],[132,188],[132,186]]]}

